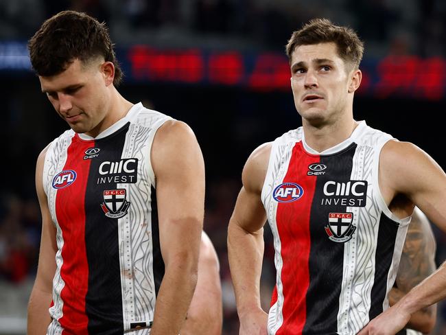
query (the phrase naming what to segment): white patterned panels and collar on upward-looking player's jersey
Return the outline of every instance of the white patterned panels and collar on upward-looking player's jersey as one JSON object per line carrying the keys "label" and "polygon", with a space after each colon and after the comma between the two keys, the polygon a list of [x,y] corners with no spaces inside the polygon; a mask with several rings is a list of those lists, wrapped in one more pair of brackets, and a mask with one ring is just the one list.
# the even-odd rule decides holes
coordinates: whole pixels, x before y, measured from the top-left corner
{"label": "white patterned panels and collar on upward-looking player's jersey", "polygon": [[[281,257],[281,237],[279,236],[276,217],[278,204],[277,201],[273,200],[273,192],[278,185],[283,183],[283,179],[287,174],[288,166],[290,164],[290,159],[292,159],[293,148],[299,141],[302,141],[303,148],[305,148],[307,152],[306,154],[309,154],[310,156],[318,155],[321,159],[324,159],[324,162],[331,159],[330,157],[334,157],[344,152],[344,150],[347,150],[348,148],[353,148],[351,149],[354,150],[353,161],[351,163],[352,170],[349,172],[347,178],[349,178],[350,181],[366,182],[367,192],[365,206],[359,205],[354,207],[355,205],[352,203],[351,206],[347,206],[344,209],[347,213],[353,214],[352,224],[357,230],[351,235],[351,240],[347,240],[348,242],[344,243],[344,249],[342,251],[343,261],[342,265],[339,264],[340,266],[343,266],[343,268],[342,281],[340,281],[340,295],[338,297],[338,328],[336,331],[340,335],[357,334],[357,332],[368,323],[369,315],[373,315],[378,308],[377,306],[380,305],[382,298],[377,297],[384,297],[384,294],[386,297],[384,297],[382,307],[383,310],[388,308],[387,295],[395,281],[403,242],[406,237],[408,223],[410,222],[410,218],[399,219],[391,213],[384,202],[384,198],[379,189],[379,154],[383,146],[389,140],[395,139],[384,132],[367,126],[365,122],[360,122],[349,139],[346,139],[342,143],[339,143],[338,146],[329,148],[324,152],[316,152],[307,146],[305,137],[303,136],[302,127],[296,130],[291,130],[272,142],[270,161],[268,163],[266,179],[261,192],[261,200],[266,209],[268,222],[270,223],[274,235],[274,262],[277,268],[277,301],[270,308],[268,316],[268,334],[276,334],[282,325],[285,327],[282,314],[284,304],[283,299],[285,298],[283,297],[281,279],[281,270],[285,265],[283,264],[283,259]],[[305,156],[305,153],[303,154]],[[309,176],[310,174],[307,175]],[[334,176],[333,178],[337,177]],[[296,182],[298,183],[298,181]],[[322,187],[322,185],[320,184],[318,187]],[[329,194],[326,195],[328,196]],[[331,205],[331,203],[328,203],[328,201],[325,203],[322,202],[319,205],[313,203],[312,208],[317,209],[318,206],[323,207],[324,205]],[[320,223],[314,222],[313,224]],[[384,232],[388,230],[393,231],[393,234],[396,232],[396,236],[392,235],[395,236],[395,240],[383,239],[383,234],[385,235],[385,233],[380,230],[380,224],[383,224],[383,227],[387,227],[383,230]],[[314,243],[319,242],[319,240],[314,241]],[[388,248],[390,247],[389,249],[392,249],[390,250],[390,253],[387,253],[387,251],[385,253],[379,253],[379,251],[377,251],[379,243],[384,243],[382,245],[386,245]],[[384,268],[381,267],[378,271],[377,267],[379,267],[379,264],[376,264],[376,262],[379,261],[377,261],[377,257],[378,259],[387,257],[386,264],[390,264],[390,268],[384,270]],[[382,280],[383,275],[385,276],[384,281]],[[379,278],[379,285],[375,285],[375,277]],[[385,288],[381,289],[383,283]],[[373,290],[380,290],[380,295],[371,297]],[[292,299],[292,297],[287,297],[287,299]],[[314,299],[317,298],[311,296],[309,299],[313,299],[312,301],[314,301]],[[379,304],[373,301],[379,301]],[[374,308],[371,308],[372,305]],[[307,331],[311,332],[311,329],[312,328],[309,328]]]}

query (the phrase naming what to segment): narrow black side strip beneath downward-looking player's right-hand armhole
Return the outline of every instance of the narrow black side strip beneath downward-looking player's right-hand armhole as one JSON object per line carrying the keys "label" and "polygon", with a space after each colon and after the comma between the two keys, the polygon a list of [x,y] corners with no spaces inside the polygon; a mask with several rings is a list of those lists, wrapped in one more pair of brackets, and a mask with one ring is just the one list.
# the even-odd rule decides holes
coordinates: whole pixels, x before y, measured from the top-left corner
{"label": "narrow black side strip beneath downward-looking player's right-hand armhole", "polygon": [[152,207],[152,244],[153,244],[153,275],[155,283],[155,292],[158,296],[159,287],[164,277],[165,265],[161,255],[161,246],[159,240],[159,221],[158,206],[156,205],[156,189],[152,186],[151,206]]}

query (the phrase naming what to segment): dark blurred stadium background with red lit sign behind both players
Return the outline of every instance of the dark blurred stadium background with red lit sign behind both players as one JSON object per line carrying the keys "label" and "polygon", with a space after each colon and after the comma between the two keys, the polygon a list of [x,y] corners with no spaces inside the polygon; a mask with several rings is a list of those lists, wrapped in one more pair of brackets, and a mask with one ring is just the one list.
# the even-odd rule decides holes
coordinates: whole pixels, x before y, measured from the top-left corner
{"label": "dark blurred stadium background with red lit sign behind both players", "polygon": [[[44,19],[65,9],[106,21],[126,73],[119,89],[128,100],[196,132],[207,164],[204,229],[221,264],[223,334],[238,334],[226,227],[244,161],[259,144],[301,125],[283,49],[302,23],[327,17],[355,28],[366,43],[355,118],[412,141],[446,167],[444,0],[0,0],[0,334],[25,334],[40,239],[34,165],[67,128],[40,93],[26,41]],[[441,264],[446,235],[434,233]],[[265,237],[267,308],[274,284],[268,227]],[[433,334],[446,334],[445,324],[443,303]]]}

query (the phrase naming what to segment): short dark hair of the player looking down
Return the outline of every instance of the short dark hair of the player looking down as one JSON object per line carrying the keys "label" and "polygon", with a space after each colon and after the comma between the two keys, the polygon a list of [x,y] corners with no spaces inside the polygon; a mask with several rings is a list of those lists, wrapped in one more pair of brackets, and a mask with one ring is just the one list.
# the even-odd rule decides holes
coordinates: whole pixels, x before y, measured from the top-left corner
{"label": "short dark hair of the player looking down", "polygon": [[115,65],[113,84],[123,73],[105,23],[73,10],[65,10],[47,19],[28,42],[31,64],[38,76],[55,76],[78,58],[84,64],[98,57]]}

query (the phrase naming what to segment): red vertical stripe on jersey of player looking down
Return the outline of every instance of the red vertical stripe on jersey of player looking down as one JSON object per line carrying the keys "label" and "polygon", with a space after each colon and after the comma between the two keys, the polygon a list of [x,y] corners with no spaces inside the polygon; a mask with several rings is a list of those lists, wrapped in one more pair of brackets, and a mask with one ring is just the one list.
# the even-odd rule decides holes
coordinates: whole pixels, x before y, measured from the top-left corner
{"label": "red vertical stripe on jersey of player looking down", "polygon": [[[85,296],[89,283],[89,266],[85,247],[85,190],[89,176],[91,159],[79,159],[94,142],[79,141],[73,137],[67,149],[64,170],[76,174],[71,185],[58,189],[56,195],[56,215],[62,229],[63,264],[60,276],[65,286],[60,293],[64,305],[63,316],[58,320],[65,334],[88,334],[89,320],[85,313]],[[62,334],[63,334],[62,333]]]}

